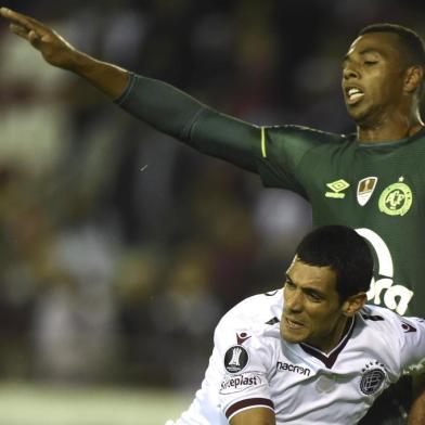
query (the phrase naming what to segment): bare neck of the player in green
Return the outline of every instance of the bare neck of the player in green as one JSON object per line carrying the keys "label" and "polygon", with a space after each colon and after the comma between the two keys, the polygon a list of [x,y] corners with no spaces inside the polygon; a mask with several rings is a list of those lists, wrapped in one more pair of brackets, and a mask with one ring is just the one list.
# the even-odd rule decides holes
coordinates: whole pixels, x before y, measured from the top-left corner
{"label": "bare neck of the player in green", "polygon": [[410,116],[384,116],[373,124],[362,123],[357,127],[358,141],[361,143],[379,143],[384,141],[400,140],[415,134],[424,127],[420,112]]}

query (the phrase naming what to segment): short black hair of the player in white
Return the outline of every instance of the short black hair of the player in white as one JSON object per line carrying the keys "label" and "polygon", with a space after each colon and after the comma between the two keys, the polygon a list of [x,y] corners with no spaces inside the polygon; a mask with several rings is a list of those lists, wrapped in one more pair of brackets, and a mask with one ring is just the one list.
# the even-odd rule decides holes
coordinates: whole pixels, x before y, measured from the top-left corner
{"label": "short black hair of the player in white", "polygon": [[324,226],[308,233],[296,255],[306,265],[330,267],[336,273],[339,301],[368,292],[373,274],[373,257],[368,242],[346,226]]}

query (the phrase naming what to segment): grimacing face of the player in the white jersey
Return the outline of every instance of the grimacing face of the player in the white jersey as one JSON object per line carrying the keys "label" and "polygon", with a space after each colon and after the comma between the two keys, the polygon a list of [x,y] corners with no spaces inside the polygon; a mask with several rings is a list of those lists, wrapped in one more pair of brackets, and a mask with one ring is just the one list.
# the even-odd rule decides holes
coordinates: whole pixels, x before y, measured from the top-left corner
{"label": "grimacing face of the player in the white jersey", "polygon": [[309,266],[295,257],[284,286],[281,335],[286,342],[325,350],[340,336],[346,318],[335,285],[332,269]]}

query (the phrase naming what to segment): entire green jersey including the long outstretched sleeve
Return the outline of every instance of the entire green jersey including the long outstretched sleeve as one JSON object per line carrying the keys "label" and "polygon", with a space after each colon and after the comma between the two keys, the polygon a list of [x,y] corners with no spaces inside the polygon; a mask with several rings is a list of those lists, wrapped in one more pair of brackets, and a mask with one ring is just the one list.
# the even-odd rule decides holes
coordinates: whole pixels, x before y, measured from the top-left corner
{"label": "entire green jersey including the long outstretched sleeve", "polygon": [[257,127],[133,74],[116,102],[198,151],[259,173],[265,185],[300,194],[314,226],[357,229],[375,255],[370,302],[425,315],[425,130],[361,144],[309,128]]}

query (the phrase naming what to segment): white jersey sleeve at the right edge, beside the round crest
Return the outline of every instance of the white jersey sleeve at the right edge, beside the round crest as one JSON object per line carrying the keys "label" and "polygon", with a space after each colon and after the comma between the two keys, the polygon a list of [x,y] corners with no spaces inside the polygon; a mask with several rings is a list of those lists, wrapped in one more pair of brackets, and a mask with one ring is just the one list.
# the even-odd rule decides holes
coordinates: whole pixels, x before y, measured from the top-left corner
{"label": "white jersey sleeve at the right edge, beside the round crest", "polygon": [[425,320],[399,318],[400,366],[404,373],[412,373],[425,364]]}

